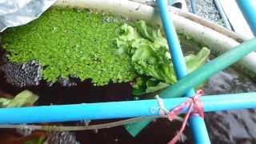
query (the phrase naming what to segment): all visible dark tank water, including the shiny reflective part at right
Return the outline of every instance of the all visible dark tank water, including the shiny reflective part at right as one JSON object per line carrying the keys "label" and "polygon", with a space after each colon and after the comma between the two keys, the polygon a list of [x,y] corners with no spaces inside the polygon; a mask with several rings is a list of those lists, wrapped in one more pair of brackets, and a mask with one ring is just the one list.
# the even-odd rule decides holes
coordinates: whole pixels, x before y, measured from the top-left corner
{"label": "all visible dark tank water, including the shiny reflective part at right", "polygon": [[[78,86],[62,87],[58,84],[47,86],[42,82],[37,87],[17,88],[5,82],[0,74],[1,94],[15,95],[28,89],[40,96],[38,105],[66,104],[81,102],[110,102],[133,99],[128,83],[110,84],[109,86],[94,87],[90,82],[79,83]],[[246,78],[234,70],[226,70],[210,78],[204,86],[206,94],[228,94],[256,91],[256,86],[250,78]],[[206,114],[206,126],[212,143],[256,143],[256,114],[255,110],[232,110]],[[108,121],[93,121],[97,124]],[[70,124],[70,123],[69,123]],[[74,124],[74,123],[71,123]],[[75,122],[83,125],[82,122]],[[126,132],[122,126],[98,130],[78,131],[75,133],[52,133],[49,143],[167,143],[180,128],[181,122],[168,122],[158,119],[151,122],[136,138]],[[7,136],[6,136],[7,134]],[[189,128],[185,131],[185,141],[192,143]],[[22,139],[23,138],[23,139]],[[25,137],[17,130],[0,130],[0,143],[22,143]],[[11,140],[10,140],[11,139]]]}

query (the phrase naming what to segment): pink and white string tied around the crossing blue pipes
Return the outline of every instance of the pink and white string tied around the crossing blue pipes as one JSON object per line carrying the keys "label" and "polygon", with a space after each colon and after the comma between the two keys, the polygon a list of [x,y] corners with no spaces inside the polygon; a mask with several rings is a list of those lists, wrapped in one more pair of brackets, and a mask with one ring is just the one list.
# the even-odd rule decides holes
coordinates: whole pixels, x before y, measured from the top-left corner
{"label": "pink and white string tied around the crossing blue pipes", "polygon": [[197,90],[196,94],[193,97],[188,98],[186,102],[182,102],[178,106],[176,106],[174,109],[168,111],[166,110],[166,107],[164,106],[164,103],[162,101],[162,98],[159,98],[157,95],[155,98],[157,98],[158,106],[159,106],[159,114],[160,115],[166,115],[167,118],[170,120],[170,122],[174,121],[175,118],[178,117],[179,114],[181,114],[182,110],[188,108],[188,111],[185,115],[184,121],[182,122],[182,127],[180,130],[178,130],[178,133],[172,138],[168,144],[174,144],[178,142],[178,140],[181,138],[183,131],[186,128],[186,123],[191,115],[199,115],[202,118],[204,118],[204,110],[203,105],[200,100],[200,97],[204,94],[203,90]]}

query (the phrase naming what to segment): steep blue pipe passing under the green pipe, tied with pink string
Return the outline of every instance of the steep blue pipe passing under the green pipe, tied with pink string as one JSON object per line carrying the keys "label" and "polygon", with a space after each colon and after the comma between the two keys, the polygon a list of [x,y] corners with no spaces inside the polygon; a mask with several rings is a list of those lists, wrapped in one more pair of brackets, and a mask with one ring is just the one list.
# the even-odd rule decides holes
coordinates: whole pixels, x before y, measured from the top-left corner
{"label": "steep blue pipe passing under the green pipe, tied with pink string", "polygon": [[[179,45],[178,36],[174,30],[174,25],[171,21],[169,12],[167,10],[166,0],[157,0],[158,8],[162,18],[162,26],[166,33],[166,39],[168,42],[172,62],[174,64],[175,74],[178,79],[186,76],[186,62],[182,54],[181,46]],[[186,92],[187,97],[194,95],[194,90],[190,89]],[[210,138],[206,130],[206,124],[204,120],[194,115],[190,118],[190,127],[192,129],[192,134],[194,142],[198,144],[210,143]]]}

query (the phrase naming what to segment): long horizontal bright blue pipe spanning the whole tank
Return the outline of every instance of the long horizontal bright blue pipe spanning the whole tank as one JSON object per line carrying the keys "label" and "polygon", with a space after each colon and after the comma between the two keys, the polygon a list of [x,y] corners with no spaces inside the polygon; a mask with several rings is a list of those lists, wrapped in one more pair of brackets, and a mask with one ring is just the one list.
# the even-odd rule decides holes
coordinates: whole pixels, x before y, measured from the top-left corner
{"label": "long horizontal bright blue pipe spanning the whole tank", "polygon": [[[256,93],[220,94],[201,98],[206,112],[256,108]],[[187,98],[163,99],[171,110]],[[80,120],[131,118],[158,115],[158,102],[153,100],[99,102],[57,106],[31,106],[0,109],[0,124],[68,122]],[[186,112],[186,111],[183,111]]]}

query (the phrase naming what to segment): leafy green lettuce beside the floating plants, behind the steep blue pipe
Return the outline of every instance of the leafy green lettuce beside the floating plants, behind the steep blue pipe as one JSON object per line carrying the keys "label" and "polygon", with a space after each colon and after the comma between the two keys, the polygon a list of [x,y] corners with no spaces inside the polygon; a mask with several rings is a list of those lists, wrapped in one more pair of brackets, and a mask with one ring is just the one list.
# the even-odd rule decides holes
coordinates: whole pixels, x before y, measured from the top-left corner
{"label": "leafy green lettuce beside the floating plants, behind the steep blue pipe", "polygon": [[[177,82],[170,51],[159,29],[146,26],[144,21],[134,22],[134,26],[121,26],[122,34],[116,39],[117,54],[127,54],[134,70],[140,75],[132,82],[134,95],[153,93]],[[210,50],[203,47],[198,54],[185,57],[190,73],[206,62]]]}

